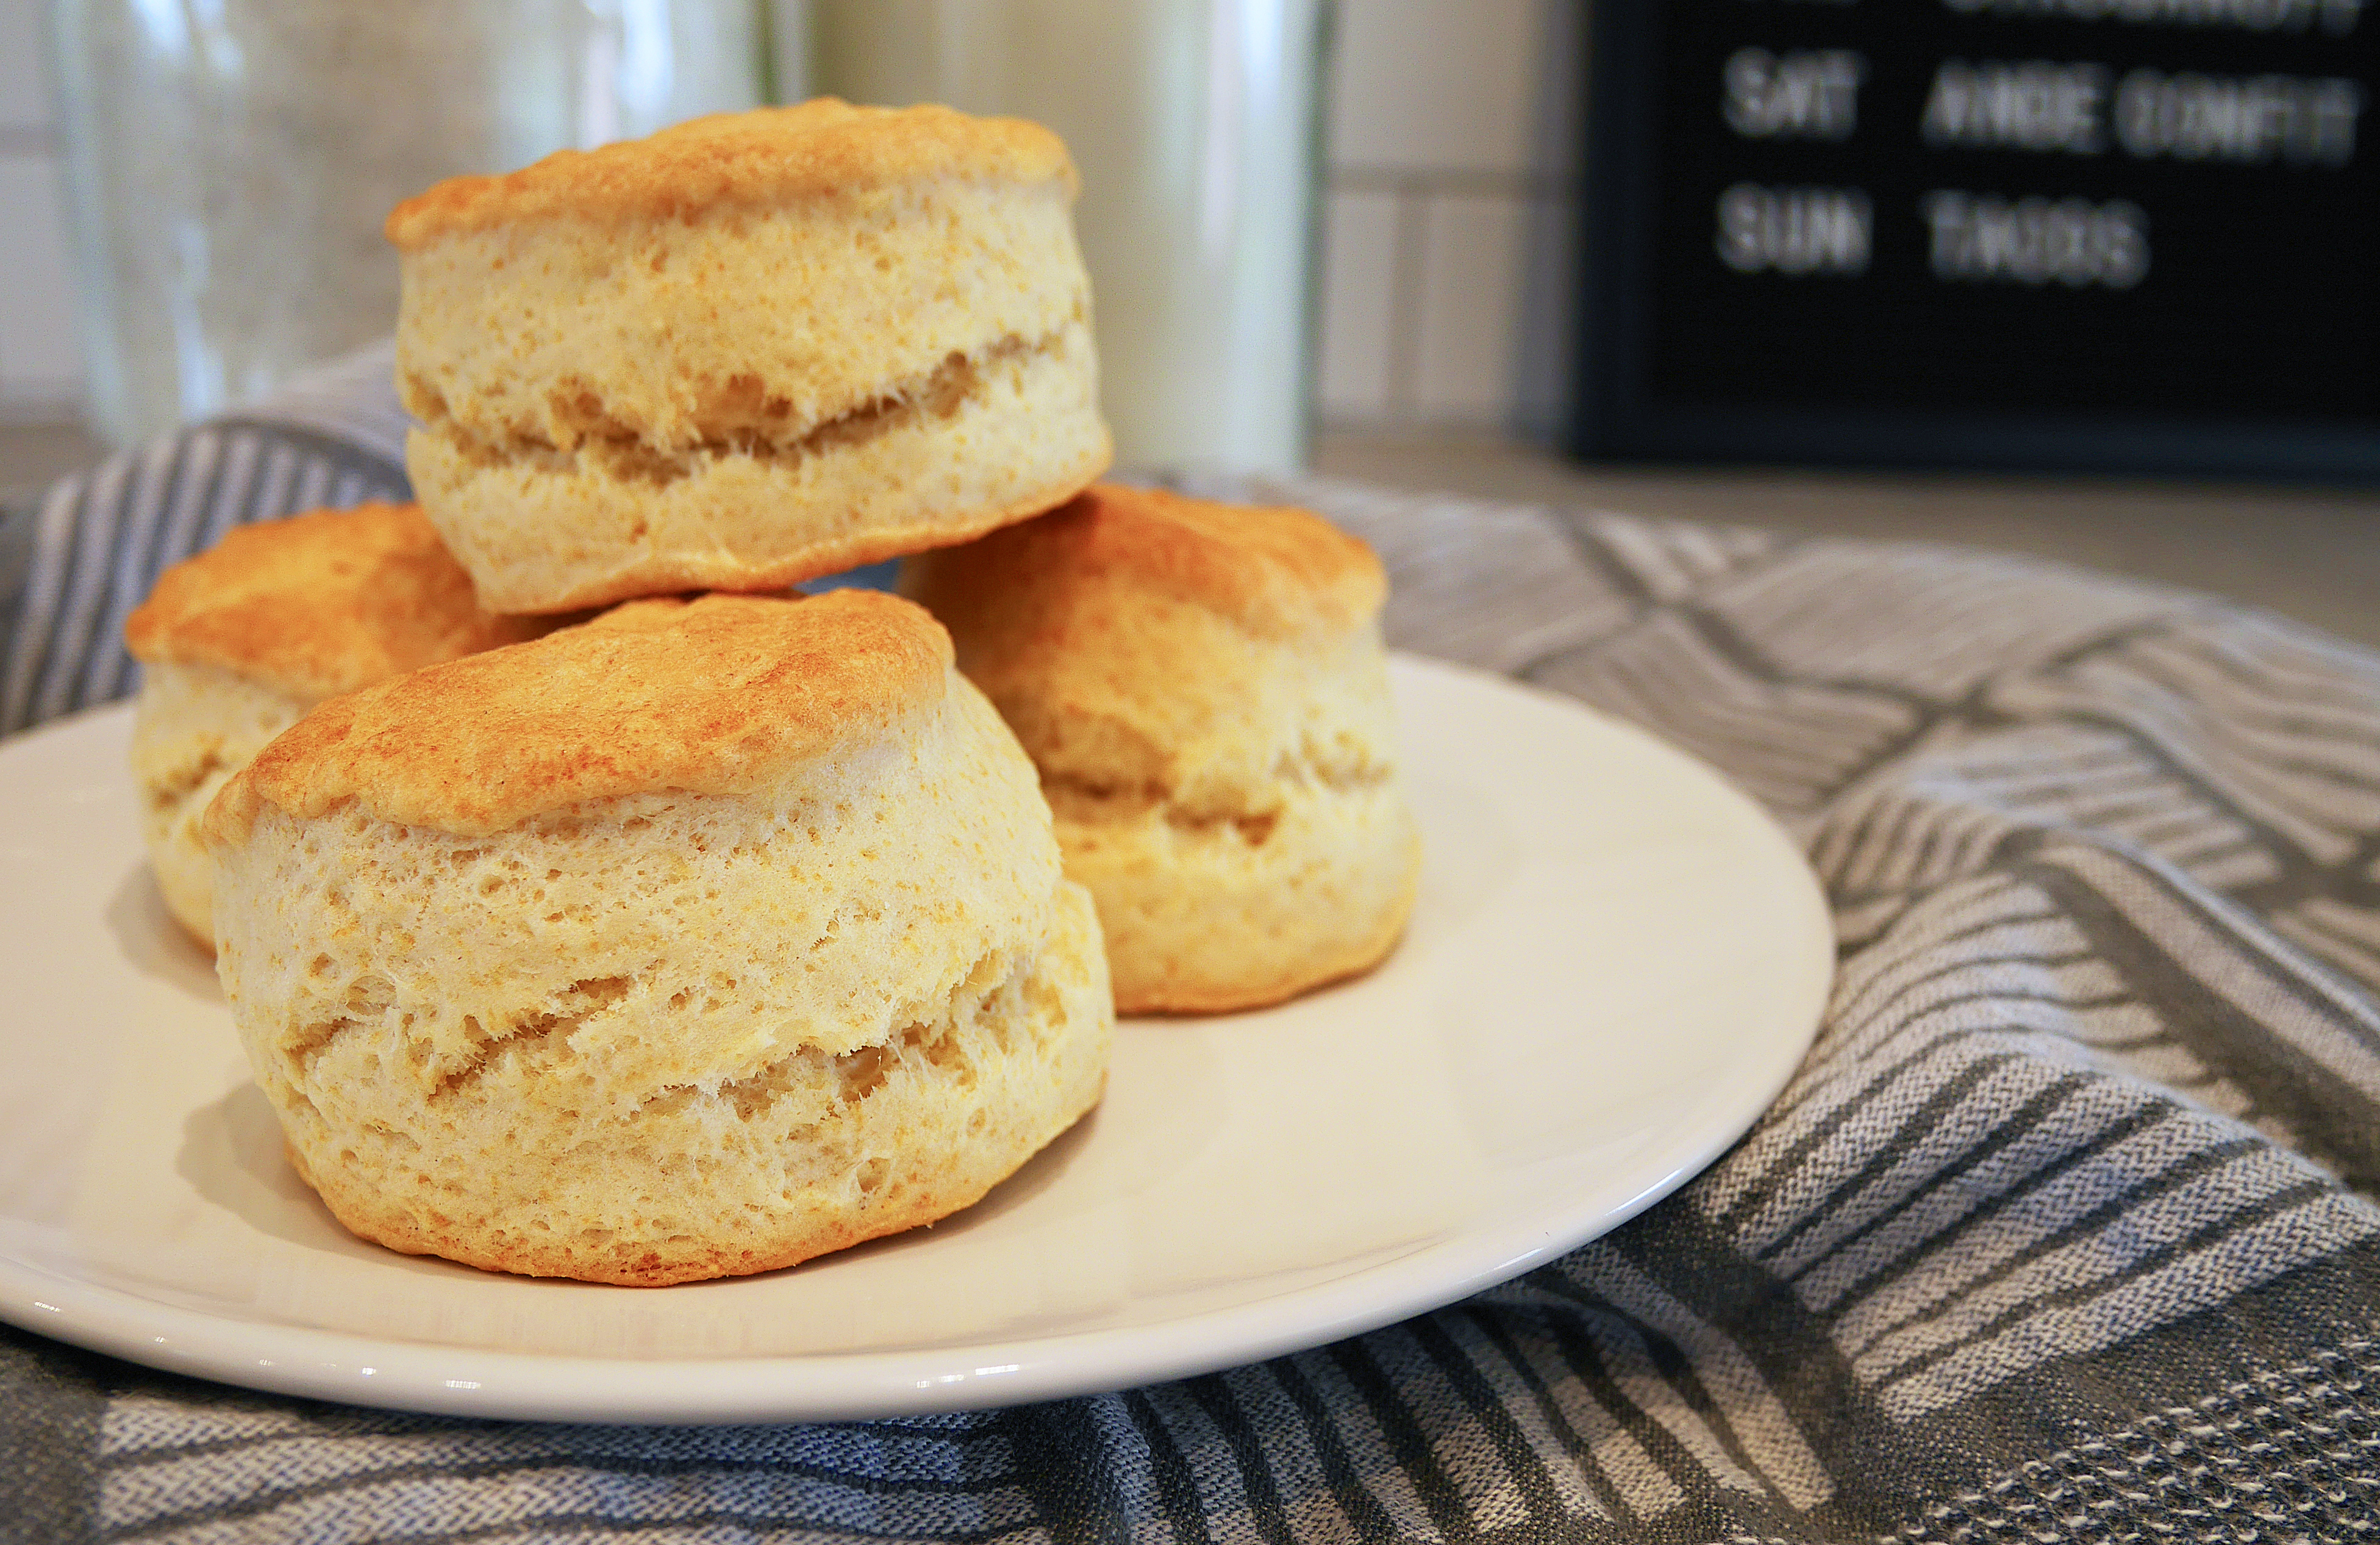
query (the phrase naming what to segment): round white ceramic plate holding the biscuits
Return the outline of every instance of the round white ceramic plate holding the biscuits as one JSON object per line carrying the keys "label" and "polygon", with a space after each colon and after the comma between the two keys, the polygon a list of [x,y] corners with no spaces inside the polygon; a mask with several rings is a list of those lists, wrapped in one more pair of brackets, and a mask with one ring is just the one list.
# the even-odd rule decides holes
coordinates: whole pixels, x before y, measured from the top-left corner
{"label": "round white ceramic plate holding the biscuits", "polygon": [[973,1209],[683,1288],[350,1238],[164,914],[129,709],[0,748],[0,1316],[159,1369],[474,1416],[895,1416],[1128,1388],[1452,1302],[1676,1190],[1833,969],[1818,888],[1697,762],[1395,664],[1428,845],[1371,976],[1126,1021],[1107,1102]]}

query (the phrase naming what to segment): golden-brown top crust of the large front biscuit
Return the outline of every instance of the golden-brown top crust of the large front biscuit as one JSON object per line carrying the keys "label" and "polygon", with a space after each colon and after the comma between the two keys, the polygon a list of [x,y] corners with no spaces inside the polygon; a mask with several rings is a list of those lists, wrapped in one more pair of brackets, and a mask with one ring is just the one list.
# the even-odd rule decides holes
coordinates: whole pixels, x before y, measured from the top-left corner
{"label": "golden-brown top crust of the large front biscuit", "polygon": [[324,702],[224,786],[207,843],[243,843],[264,805],[486,836],[585,800],[747,793],[947,683],[950,633],[876,590],[635,607]]}

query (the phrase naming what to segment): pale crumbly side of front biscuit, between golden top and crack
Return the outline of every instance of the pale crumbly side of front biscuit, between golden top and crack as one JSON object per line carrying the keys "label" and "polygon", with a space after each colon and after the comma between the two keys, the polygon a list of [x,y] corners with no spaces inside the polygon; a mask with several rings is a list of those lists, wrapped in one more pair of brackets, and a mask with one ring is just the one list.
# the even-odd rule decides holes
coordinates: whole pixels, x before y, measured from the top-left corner
{"label": "pale crumbly side of front biscuit, between golden top and crack", "polygon": [[1047,817],[988,717],[954,683],[914,745],[833,752],[766,797],[640,793],[495,836],[264,807],[224,859],[226,983],[276,1028],[267,1062],[376,1043],[390,1097],[557,1038],[614,1112],[883,1045],[1045,931]]}

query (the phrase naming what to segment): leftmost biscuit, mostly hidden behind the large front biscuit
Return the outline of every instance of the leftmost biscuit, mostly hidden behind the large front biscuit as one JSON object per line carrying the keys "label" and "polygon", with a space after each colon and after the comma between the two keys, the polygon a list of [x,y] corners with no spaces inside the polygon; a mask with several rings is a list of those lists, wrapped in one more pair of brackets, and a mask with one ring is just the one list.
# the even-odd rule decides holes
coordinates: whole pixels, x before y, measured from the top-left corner
{"label": "leftmost biscuit, mostly hidden behind the large front biscuit", "polygon": [[550,626],[481,609],[412,505],[233,526],[157,576],[124,643],[145,667],[133,717],[140,836],[174,919],[214,945],[198,817],[309,707]]}

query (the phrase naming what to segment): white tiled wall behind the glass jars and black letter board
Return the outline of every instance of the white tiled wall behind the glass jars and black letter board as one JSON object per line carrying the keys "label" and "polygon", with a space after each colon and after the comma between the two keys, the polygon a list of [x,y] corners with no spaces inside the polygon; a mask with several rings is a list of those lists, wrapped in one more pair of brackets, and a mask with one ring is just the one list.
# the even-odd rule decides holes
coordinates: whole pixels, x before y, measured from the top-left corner
{"label": "white tiled wall behind the glass jars and black letter board", "polygon": [[[1566,176],[1580,0],[1340,0],[1323,202],[1321,412],[1333,424],[1535,421],[1537,250]],[[71,274],[43,86],[43,0],[0,0],[0,417],[71,409]],[[1552,50],[1552,52],[1549,52]],[[1552,98],[1547,93],[1552,83]],[[1554,126],[1554,133],[1549,133]]]}

